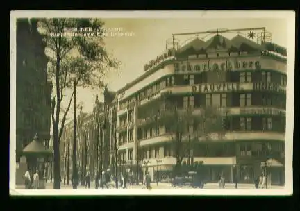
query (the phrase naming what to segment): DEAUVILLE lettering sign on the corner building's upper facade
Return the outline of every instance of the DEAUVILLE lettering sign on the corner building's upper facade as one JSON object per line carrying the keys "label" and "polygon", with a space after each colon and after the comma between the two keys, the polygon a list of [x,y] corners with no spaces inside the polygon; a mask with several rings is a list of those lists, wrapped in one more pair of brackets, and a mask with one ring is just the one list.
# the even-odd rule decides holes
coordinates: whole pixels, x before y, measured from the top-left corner
{"label": "DEAUVILLE lettering sign on the corner building's upper facade", "polygon": [[192,86],[192,92],[235,92],[239,90],[239,83],[209,83]]}

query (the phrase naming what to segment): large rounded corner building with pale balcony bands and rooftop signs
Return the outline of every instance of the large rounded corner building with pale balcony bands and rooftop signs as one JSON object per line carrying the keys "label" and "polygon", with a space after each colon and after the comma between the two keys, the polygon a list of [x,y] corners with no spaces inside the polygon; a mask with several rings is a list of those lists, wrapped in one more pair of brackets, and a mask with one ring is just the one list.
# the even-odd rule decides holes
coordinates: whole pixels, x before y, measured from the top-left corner
{"label": "large rounded corner building with pale balcony bands and rooftop signs", "polygon": [[226,108],[230,126],[222,138],[194,144],[194,164],[202,163],[203,177],[217,181],[223,174],[229,182],[238,176],[252,183],[268,160],[272,183],[285,183],[284,56],[286,49],[272,40],[257,43],[242,35],[173,45],[117,92],[119,160],[133,172],[142,166],[152,178],[171,171],[176,164],[172,137],[156,117],[167,102],[195,111],[215,106]]}

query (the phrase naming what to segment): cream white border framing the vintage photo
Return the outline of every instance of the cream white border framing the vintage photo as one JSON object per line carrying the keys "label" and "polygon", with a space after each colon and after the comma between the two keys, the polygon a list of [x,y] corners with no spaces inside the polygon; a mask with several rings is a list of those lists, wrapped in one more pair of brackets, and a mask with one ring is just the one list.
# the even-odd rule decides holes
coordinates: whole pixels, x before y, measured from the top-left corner
{"label": "cream white border framing the vintage photo", "polygon": [[[269,18],[286,19],[288,31],[287,103],[285,128],[285,187],[284,189],[38,189],[34,192],[15,189],[16,165],[16,20],[33,17],[99,17],[99,18]],[[294,129],[294,61],[295,61],[294,11],[47,11],[23,10],[10,12],[10,194],[12,195],[226,195],[226,196],[287,196],[293,193],[293,129]]]}

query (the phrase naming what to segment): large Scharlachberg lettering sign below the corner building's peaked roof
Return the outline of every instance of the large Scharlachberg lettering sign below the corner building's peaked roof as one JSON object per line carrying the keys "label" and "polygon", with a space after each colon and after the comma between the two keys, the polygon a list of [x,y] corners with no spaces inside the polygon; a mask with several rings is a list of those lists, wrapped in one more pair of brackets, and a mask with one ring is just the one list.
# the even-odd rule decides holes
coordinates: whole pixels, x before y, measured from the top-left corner
{"label": "large Scharlachberg lettering sign below the corner building's peaked roof", "polygon": [[238,69],[260,69],[260,61],[243,61],[243,60],[224,60],[214,62],[212,60],[199,61],[196,64],[185,62],[183,64],[175,63],[175,72],[187,71],[230,71]]}

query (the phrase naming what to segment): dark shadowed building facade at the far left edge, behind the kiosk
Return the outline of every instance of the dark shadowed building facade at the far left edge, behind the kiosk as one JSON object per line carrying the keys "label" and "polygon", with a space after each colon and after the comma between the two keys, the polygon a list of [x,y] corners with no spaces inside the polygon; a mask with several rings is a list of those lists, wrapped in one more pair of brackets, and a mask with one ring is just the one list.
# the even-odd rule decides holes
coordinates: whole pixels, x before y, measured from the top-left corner
{"label": "dark shadowed building facade at the far left edge, behind the kiosk", "polygon": [[47,81],[46,44],[35,19],[17,19],[16,153],[38,134],[49,142],[52,86]]}

